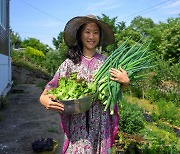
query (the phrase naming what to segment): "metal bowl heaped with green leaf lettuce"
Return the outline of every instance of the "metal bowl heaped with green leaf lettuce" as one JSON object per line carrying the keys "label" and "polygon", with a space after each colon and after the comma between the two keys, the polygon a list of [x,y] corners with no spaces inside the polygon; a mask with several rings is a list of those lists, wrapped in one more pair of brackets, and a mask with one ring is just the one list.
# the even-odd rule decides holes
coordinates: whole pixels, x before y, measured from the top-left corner
{"label": "metal bowl heaped with green leaf lettuce", "polygon": [[56,100],[64,104],[65,114],[78,114],[90,109],[96,92],[96,86],[83,78],[77,77],[77,72],[68,78],[61,77],[56,89],[49,90]]}

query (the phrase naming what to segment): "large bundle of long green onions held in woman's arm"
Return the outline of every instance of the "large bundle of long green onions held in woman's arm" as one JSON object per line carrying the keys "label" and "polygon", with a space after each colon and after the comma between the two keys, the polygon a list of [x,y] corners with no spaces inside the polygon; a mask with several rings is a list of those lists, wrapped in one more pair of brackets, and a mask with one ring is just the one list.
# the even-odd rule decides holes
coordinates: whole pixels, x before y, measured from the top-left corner
{"label": "large bundle of long green onions held in woman's arm", "polygon": [[141,78],[138,73],[152,67],[154,53],[149,51],[150,43],[138,44],[128,47],[126,40],[108,58],[100,69],[94,74],[94,84],[97,86],[97,98],[105,105],[104,111],[110,109],[114,114],[116,103],[122,100],[122,87],[116,81],[110,79],[110,68],[126,70],[128,77],[133,79]]}

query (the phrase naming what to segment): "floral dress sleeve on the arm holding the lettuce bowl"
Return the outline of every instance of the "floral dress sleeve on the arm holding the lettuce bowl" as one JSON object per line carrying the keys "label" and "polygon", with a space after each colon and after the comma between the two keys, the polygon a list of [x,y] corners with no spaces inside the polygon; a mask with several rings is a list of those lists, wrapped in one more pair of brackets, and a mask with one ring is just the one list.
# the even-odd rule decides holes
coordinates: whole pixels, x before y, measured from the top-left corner
{"label": "floral dress sleeve on the arm holding the lettuce bowl", "polygon": [[72,61],[69,59],[66,59],[58,68],[56,73],[54,74],[54,77],[52,78],[51,81],[47,83],[45,86],[45,89],[51,89],[51,88],[57,88],[58,87],[58,80],[61,77],[68,77],[68,75],[71,72],[71,66],[72,66]]}

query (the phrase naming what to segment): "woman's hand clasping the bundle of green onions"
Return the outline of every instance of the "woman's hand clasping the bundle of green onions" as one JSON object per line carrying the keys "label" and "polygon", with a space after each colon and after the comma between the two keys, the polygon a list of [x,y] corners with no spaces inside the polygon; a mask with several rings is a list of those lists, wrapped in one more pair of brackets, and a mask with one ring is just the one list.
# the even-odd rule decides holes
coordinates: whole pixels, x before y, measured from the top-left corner
{"label": "woman's hand clasping the bundle of green onions", "polygon": [[113,81],[117,81],[119,83],[121,83],[124,86],[127,86],[130,82],[129,77],[127,75],[127,72],[125,70],[123,70],[121,67],[120,69],[115,69],[115,68],[111,68],[109,70],[110,72],[110,79]]}

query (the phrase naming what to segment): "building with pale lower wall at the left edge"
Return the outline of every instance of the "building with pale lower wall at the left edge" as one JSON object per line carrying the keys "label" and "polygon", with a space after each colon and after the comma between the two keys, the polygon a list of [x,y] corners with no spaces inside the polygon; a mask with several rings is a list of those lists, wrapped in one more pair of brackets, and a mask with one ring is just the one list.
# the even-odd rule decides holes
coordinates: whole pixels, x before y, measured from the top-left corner
{"label": "building with pale lower wall at the left edge", "polygon": [[5,96],[12,85],[9,0],[0,0],[0,97]]}

